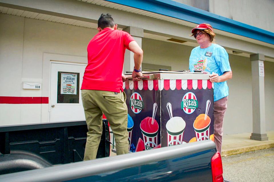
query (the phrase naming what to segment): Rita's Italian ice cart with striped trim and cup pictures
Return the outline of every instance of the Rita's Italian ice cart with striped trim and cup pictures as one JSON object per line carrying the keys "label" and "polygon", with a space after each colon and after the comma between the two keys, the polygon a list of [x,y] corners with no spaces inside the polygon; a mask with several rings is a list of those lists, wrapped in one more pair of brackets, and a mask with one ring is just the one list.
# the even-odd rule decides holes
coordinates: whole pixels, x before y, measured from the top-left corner
{"label": "Rita's Italian ice cart with striped trim and cup pictures", "polygon": [[123,83],[131,152],[200,140],[213,135],[213,83],[209,75],[143,72]]}

